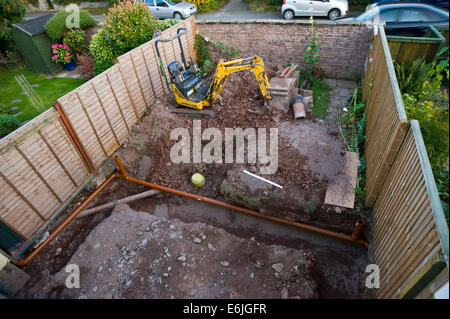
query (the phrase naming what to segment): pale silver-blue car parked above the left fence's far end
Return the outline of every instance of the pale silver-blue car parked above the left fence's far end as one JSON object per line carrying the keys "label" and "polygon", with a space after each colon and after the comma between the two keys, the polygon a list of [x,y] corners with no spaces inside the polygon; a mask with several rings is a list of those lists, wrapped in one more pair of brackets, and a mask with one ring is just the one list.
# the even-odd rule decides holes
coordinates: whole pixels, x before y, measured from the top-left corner
{"label": "pale silver-blue car parked above the left fence's far end", "polygon": [[189,2],[175,3],[168,0],[142,0],[157,19],[186,19],[197,13],[195,4]]}

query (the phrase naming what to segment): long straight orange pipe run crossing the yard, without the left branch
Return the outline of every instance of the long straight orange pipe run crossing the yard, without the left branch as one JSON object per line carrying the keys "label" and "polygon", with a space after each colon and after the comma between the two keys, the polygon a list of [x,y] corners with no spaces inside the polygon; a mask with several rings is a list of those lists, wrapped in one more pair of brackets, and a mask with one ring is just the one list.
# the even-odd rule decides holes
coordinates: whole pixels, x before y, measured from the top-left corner
{"label": "long straight orange pipe run crossing the yard, without the left branch", "polygon": [[[290,226],[294,226],[294,227],[301,228],[301,229],[306,229],[306,230],[309,230],[309,231],[313,231],[313,232],[320,233],[320,234],[323,234],[323,235],[331,236],[331,237],[334,237],[334,238],[339,238],[339,239],[342,239],[342,240],[346,240],[346,241],[349,241],[349,242],[352,242],[352,243],[364,246],[366,248],[369,247],[369,244],[367,243],[367,241],[365,241],[364,239],[361,239],[361,238],[353,238],[350,235],[345,235],[345,234],[338,233],[338,232],[335,232],[335,231],[331,231],[331,230],[328,230],[328,229],[323,229],[323,228],[320,228],[320,227],[315,227],[315,226],[311,226],[311,225],[307,225],[307,224],[303,224],[303,223],[299,223],[299,222],[288,221],[288,220],[281,219],[281,218],[274,217],[274,216],[266,216],[266,215],[263,215],[261,213],[258,213],[256,211],[254,211],[254,210],[251,210],[251,209],[247,209],[247,208],[243,208],[243,207],[227,204],[227,203],[224,203],[224,202],[221,202],[221,201],[218,201],[218,200],[215,200],[215,199],[211,199],[211,198],[208,198],[208,197],[203,197],[203,196],[199,196],[199,195],[195,195],[195,194],[191,194],[191,193],[182,192],[182,191],[175,190],[175,189],[172,189],[172,188],[169,188],[169,187],[153,184],[153,183],[150,183],[150,182],[147,182],[147,181],[143,181],[143,180],[131,177],[125,171],[125,168],[124,168],[122,162],[120,161],[119,157],[115,156],[114,160],[116,161],[117,166],[120,169],[119,178],[122,178],[124,180],[130,181],[130,182],[133,182],[133,183],[136,183],[136,184],[139,184],[139,185],[144,185],[144,186],[147,186],[147,187],[150,187],[150,188],[154,188],[154,189],[160,190],[162,192],[167,192],[167,193],[170,193],[170,194],[179,195],[179,196],[183,196],[183,197],[186,197],[186,198],[196,199],[196,200],[208,203],[208,204],[212,204],[212,205],[228,208],[228,209],[235,210],[235,211],[238,211],[238,212],[241,212],[241,213],[245,213],[245,214],[249,214],[249,215],[252,215],[252,216],[256,216],[256,217],[264,218],[264,219],[267,219],[267,220],[271,220],[271,221],[274,221],[274,222],[277,222],[277,223],[290,225]],[[362,224],[362,225],[364,225],[364,224]],[[361,229],[362,229],[362,226],[361,226]],[[360,231],[361,230],[359,230],[359,232]]]}

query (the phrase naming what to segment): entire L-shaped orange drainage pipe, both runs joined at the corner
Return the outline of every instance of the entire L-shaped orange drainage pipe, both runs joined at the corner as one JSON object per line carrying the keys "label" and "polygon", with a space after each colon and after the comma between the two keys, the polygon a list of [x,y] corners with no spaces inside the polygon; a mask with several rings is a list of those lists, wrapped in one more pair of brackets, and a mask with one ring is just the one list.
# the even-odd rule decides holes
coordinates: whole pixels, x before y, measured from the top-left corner
{"label": "entire L-shaped orange drainage pipe, both runs joined at the corner", "polygon": [[[251,209],[247,209],[247,208],[243,208],[243,207],[239,207],[239,206],[235,206],[235,205],[231,205],[231,204],[227,204],[215,199],[211,199],[208,197],[203,197],[203,196],[199,196],[199,195],[195,195],[195,194],[191,194],[191,193],[186,193],[186,192],[182,192],[176,189],[172,189],[169,187],[165,187],[165,186],[161,186],[158,184],[153,184],[147,181],[143,181],[134,177],[131,177],[128,175],[128,173],[125,170],[125,167],[122,164],[122,161],[119,159],[119,157],[116,155],[114,156],[114,160],[117,163],[117,166],[119,167],[120,173],[113,173],[111,176],[108,177],[108,179],[106,181],[104,181],[99,188],[97,188],[91,195],[89,195],[88,198],[86,198],[86,200],[80,204],[80,206],[78,206],[73,212],[72,214],[70,214],[69,217],[67,217],[67,219],[65,219],[61,225],[59,225],[51,234],[50,236],[48,236],[48,238],[42,242],[42,244],[40,244],[36,249],[34,249],[26,258],[23,258],[21,260],[19,260],[17,262],[18,266],[25,266],[28,263],[31,262],[31,260],[36,257],[37,254],[39,254],[42,249],[44,249],[86,206],[87,204],[89,204],[103,189],[105,189],[106,186],[108,186],[114,179],[116,178],[121,178],[123,180],[129,181],[129,182],[133,182],[139,185],[143,185],[143,186],[147,186],[150,188],[154,188],[157,190],[160,190],[162,192],[166,192],[166,193],[170,193],[170,194],[174,194],[174,195],[178,195],[178,196],[183,196],[186,198],[191,198],[191,199],[196,199],[208,204],[212,204],[212,205],[216,205],[216,206],[220,206],[220,207],[224,207],[227,209],[231,209],[231,210],[235,210],[241,213],[245,213],[248,215],[252,215],[252,216],[256,216],[256,217],[260,217],[263,219],[267,219],[270,221],[274,221],[280,224],[285,224],[285,225],[289,225],[289,226],[294,226],[297,228],[301,228],[301,229],[306,229],[312,232],[316,232],[319,234],[323,234],[323,235],[327,235],[330,237],[334,237],[334,238],[338,238],[338,239],[342,239],[351,243],[355,243],[361,246],[364,246],[366,248],[369,247],[369,244],[366,240],[359,238],[357,236],[359,236],[359,233],[362,230],[362,227],[364,226],[364,221],[362,219],[359,219],[357,222],[357,225],[355,227],[355,230],[353,231],[352,236],[350,235],[346,235],[346,234],[342,234],[342,233],[338,233],[335,231],[331,231],[328,229],[324,229],[324,228],[320,228],[320,227],[315,227],[315,226],[311,226],[311,225],[307,225],[307,224],[303,224],[303,223],[299,223],[299,222],[292,222],[289,220],[285,220],[282,218],[278,218],[278,217],[274,217],[274,216],[266,216],[263,215],[261,213],[258,213],[254,210]],[[362,221],[362,223],[360,222]],[[355,235],[355,238],[353,237],[353,235]],[[357,235],[357,236],[356,236]]]}

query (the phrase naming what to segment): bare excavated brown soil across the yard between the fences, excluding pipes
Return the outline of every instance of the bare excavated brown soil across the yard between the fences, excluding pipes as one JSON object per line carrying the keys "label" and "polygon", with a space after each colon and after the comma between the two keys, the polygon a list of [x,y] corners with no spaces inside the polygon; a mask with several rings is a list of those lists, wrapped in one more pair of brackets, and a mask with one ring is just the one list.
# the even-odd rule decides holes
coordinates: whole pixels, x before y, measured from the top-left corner
{"label": "bare excavated brown soil across the yard between the fences, excluding pipes", "polygon": [[[274,76],[275,68],[268,67],[268,73]],[[278,128],[278,169],[267,178],[283,185],[283,189],[242,174],[243,169],[258,173],[265,166],[258,162],[252,165],[246,162],[174,164],[170,150],[177,141],[171,140],[171,131],[184,128],[193,136],[194,120],[171,114],[168,111],[172,103],[170,98],[156,101],[148,115],[133,127],[123,147],[116,152],[129,174],[163,186],[248,207],[265,215],[351,234],[356,219],[367,216],[367,213],[358,209],[337,211],[323,204],[328,183],[344,165],[345,148],[333,122],[314,118],[310,110],[307,110],[307,119],[301,123],[294,122],[290,113],[272,110],[269,114],[259,114],[262,97],[251,73],[232,74],[221,97],[215,107],[214,118],[201,120],[201,130],[217,128],[223,133],[226,128],[264,128],[269,132],[270,128]],[[202,146],[206,144],[203,142]],[[223,145],[223,156],[225,151]],[[247,153],[245,159],[248,159]],[[101,176],[108,176],[115,167],[112,159],[108,160],[101,169],[100,177],[79,196],[68,212],[98,186]],[[202,188],[196,188],[190,181],[192,174],[197,172],[206,178]],[[145,190],[142,186],[117,180],[89,207]],[[69,224],[25,267],[33,279],[17,297],[370,297],[364,288],[368,256],[363,247],[169,194],[142,199],[130,206],[111,216],[111,212],[106,211]],[[133,214],[138,217],[133,217]],[[122,226],[118,226],[119,221]],[[164,225],[160,229],[179,229],[182,238],[155,233],[151,227],[155,222]],[[145,232],[147,228],[150,231]],[[117,235],[107,236],[105,232],[112,229]],[[149,237],[143,239],[139,235],[141,232],[144,235],[148,233]],[[369,238],[369,232],[370,225],[362,236]],[[208,233],[205,235],[208,243],[201,239],[202,233]],[[200,238],[204,245],[193,241],[193,238]],[[160,255],[153,254],[148,247],[140,247],[144,240],[145,245],[156,245],[151,247]],[[176,254],[167,257],[164,250],[167,247],[158,241],[167,243],[167,247],[170,246]],[[217,243],[221,241],[226,244],[220,249],[209,249],[208,244],[217,248]],[[238,252],[246,244],[255,247],[250,249],[249,246],[248,256],[244,258]],[[101,260],[95,257],[98,255],[98,245],[110,249],[109,254],[100,254]],[[105,248],[105,251],[108,249]],[[255,251],[254,258],[263,260],[263,266],[250,260],[251,251]],[[182,262],[186,264],[180,267],[177,258],[183,256],[181,254],[187,256],[187,261]],[[89,258],[92,260],[89,261]],[[125,267],[124,258],[133,260],[138,266],[126,264],[128,266]],[[211,269],[202,266],[205,260]],[[81,263],[87,278],[90,278],[89,282],[96,283],[78,294],[69,293],[62,287],[64,266],[73,262]],[[223,266],[222,262],[229,263],[229,266]],[[304,267],[300,267],[298,262]],[[272,265],[278,263],[283,263],[284,271],[274,270]],[[109,275],[106,271],[99,271],[100,267],[111,269]],[[168,273],[168,268],[173,271]],[[155,273],[148,273],[148,269],[153,269]],[[194,276],[196,280],[186,280],[185,276]],[[262,278],[270,280],[266,283]],[[98,287],[106,280],[115,282],[114,286],[107,291],[99,290]],[[305,282],[307,287],[301,284]],[[263,284],[265,286],[261,290]],[[203,288],[194,289],[198,285]],[[151,293],[146,293],[148,291]],[[246,294],[241,294],[242,291]]]}

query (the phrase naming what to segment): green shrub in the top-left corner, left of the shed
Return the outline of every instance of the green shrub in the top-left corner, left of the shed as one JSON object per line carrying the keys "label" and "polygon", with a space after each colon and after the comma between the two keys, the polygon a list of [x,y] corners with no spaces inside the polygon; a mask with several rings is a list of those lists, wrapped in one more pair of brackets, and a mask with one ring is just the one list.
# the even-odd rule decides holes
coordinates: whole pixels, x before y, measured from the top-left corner
{"label": "green shrub in the top-left corner, left of the shed", "polygon": [[25,0],[0,1],[0,39],[10,40],[11,26],[22,20],[28,7],[29,2]]}

